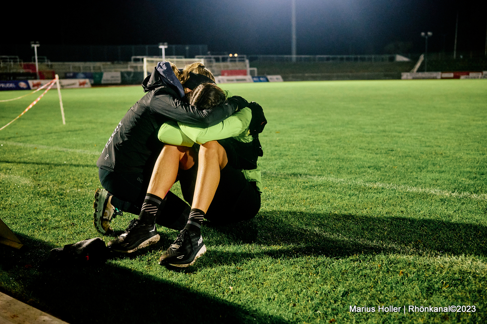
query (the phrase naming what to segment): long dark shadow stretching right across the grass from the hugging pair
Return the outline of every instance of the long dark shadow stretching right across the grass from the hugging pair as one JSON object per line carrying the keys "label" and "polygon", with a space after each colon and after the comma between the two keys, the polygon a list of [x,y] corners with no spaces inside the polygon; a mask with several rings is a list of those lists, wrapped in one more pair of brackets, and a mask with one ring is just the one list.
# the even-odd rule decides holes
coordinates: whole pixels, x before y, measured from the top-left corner
{"label": "long dark shadow stretching right across the grass from the hugging pair", "polygon": [[206,225],[204,237],[210,249],[217,244],[262,245],[257,252],[211,251],[208,265],[231,264],[260,255],[487,255],[486,226],[436,219],[277,211],[260,212],[256,218],[235,225]]}

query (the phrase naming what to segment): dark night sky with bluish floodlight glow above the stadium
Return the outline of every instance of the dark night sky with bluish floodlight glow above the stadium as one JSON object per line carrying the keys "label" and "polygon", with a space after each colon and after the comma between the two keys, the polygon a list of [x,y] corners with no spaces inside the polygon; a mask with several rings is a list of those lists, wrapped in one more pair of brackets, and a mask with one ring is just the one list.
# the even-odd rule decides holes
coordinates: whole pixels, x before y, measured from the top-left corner
{"label": "dark night sky with bluish floodlight glow above the stadium", "polygon": [[[387,44],[424,51],[421,32],[433,32],[431,52],[484,52],[487,1],[296,0],[297,54],[383,54]],[[68,5],[68,3],[67,3]],[[72,7],[75,6],[75,7]],[[207,44],[212,52],[290,54],[291,0],[143,0],[69,2],[30,9],[31,20],[12,15],[4,44]],[[53,26],[44,32],[47,26]],[[1,54],[1,53],[0,53]]]}

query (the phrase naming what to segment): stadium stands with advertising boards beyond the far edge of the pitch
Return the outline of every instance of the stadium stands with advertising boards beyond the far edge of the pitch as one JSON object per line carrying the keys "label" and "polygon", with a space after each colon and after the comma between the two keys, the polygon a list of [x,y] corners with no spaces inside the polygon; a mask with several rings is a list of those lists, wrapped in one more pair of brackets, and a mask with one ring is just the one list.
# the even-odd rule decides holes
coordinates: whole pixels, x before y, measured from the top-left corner
{"label": "stadium stands with advertising boards beyond the far edge of the pitch", "polygon": [[[37,68],[29,44],[4,45],[0,80],[89,79],[92,85],[140,84],[151,65],[162,60],[160,45],[42,45]],[[439,72],[487,70],[483,53],[428,54],[428,70]],[[167,45],[165,58],[178,67],[199,60],[220,82],[400,79],[415,68],[421,54],[377,55],[258,55],[211,53],[204,44]],[[418,70],[419,68],[419,70]],[[414,71],[416,72],[416,71]],[[468,73],[467,73],[468,74]],[[428,74],[429,75],[429,74]],[[445,74],[446,75],[446,74]],[[404,76],[403,76],[404,77]]]}

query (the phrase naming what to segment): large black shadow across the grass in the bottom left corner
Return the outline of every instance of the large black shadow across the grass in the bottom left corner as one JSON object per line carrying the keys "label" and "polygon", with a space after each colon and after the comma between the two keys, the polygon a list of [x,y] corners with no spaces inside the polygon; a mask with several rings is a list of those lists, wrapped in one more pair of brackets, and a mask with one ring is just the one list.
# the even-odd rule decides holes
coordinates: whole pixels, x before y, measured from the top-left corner
{"label": "large black shadow across the grass in the bottom left corner", "polygon": [[54,246],[18,235],[26,244],[22,250],[0,245],[4,290],[71,324],[286,323],[279,317],[109,263],[53,265],[46,259]]}

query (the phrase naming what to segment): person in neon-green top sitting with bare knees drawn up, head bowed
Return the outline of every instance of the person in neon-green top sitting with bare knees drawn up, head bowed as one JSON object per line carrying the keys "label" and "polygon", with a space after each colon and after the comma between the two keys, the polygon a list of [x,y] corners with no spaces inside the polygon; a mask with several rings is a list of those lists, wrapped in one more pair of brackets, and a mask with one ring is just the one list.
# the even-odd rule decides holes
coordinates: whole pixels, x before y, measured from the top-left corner
{"label": "person in neon-green top sitting with bare knees drawn up, head bowed", "polygon": [[[205,91],[216,86],[202,84],[192,94],[191,103],[201,107]],[[223,91],[222,91],[223,93]],[[223,95],[222,95],[223,100]],[[254,217],[261,206],[261,172],[258,156],[262,156],[258,133],[266,121],[262,107],[249,104],[222,123],[208,128],[167,122],[161,126],[158,137],[167,143],[154,167],[147,191],[144,210],[158,211],[161,201],[173,185],[179,172],[181,190],[191,203],[185,228],[164,252],[159,263],[188,267],[206,252],[201,235],[203,218],[215,223],[228,224]],[[253,112],[257,118],[253,117]],[[249,132],[252,130],[252,136]],[[196,152],[194,143],[201,144]],[[196,185],[191,188],[188,174],[197,168]],[[159,217],[164,217],[161,215]],[[158,241],[155,216],[141,212],[139,221],[150,224],[146,229],[128,228],[109,242],[112,250],[129,252],[134,245],[147,246]]]}

